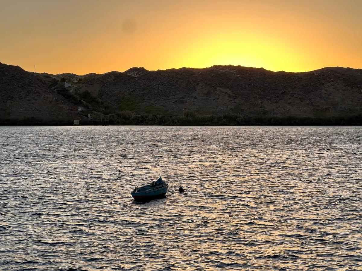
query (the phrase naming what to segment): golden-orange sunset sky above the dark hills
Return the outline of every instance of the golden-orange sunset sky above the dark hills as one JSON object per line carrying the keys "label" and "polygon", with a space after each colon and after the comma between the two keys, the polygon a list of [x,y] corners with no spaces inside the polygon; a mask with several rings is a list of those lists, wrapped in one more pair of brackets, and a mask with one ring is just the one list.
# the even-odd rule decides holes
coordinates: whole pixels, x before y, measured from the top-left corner
{"label": "golden-orange sunset sky above the dark hills", "polygon": [[362,68],[362,0],[0,0],[0,61],[86,74]]}

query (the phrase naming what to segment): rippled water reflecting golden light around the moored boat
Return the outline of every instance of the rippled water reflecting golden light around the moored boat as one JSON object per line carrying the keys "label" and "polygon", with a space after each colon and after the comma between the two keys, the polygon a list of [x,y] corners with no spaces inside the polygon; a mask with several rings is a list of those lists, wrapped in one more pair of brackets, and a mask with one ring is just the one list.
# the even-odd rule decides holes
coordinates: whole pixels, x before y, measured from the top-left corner
{"label": "rippled water reflecting golden light around the moored boat", "polygon": [[361,270],[361,157],[360,127],[3,126],[0,269]]}

